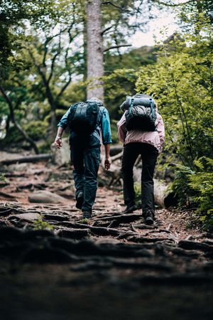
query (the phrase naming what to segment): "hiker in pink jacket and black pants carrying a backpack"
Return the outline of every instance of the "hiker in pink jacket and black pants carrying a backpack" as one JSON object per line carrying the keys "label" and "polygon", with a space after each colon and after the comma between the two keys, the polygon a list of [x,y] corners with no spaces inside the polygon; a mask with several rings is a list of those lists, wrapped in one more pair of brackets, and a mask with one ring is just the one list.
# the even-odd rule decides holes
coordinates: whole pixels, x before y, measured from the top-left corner
{"label": "hiker in pink jacket and black pants carrying a backpack", "polygon": [[124,143],[121,172],[124,180],[124,213],[137,209],[133,187],[133,166],[141,155],[141,203],[145,223],[155,218],[153,174],[158,154],[163,148],[165,130],[157,105],[149,95],[127,97],[121,105],[123,116],[117,123],[119,140]]}

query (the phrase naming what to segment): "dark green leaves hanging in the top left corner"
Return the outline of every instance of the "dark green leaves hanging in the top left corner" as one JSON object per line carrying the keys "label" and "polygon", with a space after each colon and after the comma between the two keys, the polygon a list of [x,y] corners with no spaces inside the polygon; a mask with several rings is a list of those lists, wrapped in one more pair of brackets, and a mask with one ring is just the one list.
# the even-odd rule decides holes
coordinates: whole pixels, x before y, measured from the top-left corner
{"label": "dark green leaves hanging in the top left corner", "polygon": [[[4,68],[21,70],[26,68],[25,61],[16,56],[28,36],[25,33],[25,21],[39,21],[40,26],[53,16],[53,0],[2,0],[0,14],[0,72],[5,75]],[[46,19],[45,19],[46,18]],[[48,18],[48,19],[47,19]],[[3,68],[1,68],[3,67]]]}

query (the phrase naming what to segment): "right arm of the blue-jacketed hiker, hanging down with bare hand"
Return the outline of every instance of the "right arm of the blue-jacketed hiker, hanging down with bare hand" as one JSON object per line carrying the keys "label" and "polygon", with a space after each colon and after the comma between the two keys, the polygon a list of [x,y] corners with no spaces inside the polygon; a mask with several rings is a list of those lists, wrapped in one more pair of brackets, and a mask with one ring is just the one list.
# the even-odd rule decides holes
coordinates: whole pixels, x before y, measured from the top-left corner
{"label": "right arm of the blue-jacketed hiker, hanging down with bare hand", "polygon": [[110,150],[110,144],[111,144],[111,129],[110,129],[109,113],[105,108],[102,116],[102,141],[105,149],[104,167],[105,169],[108,170],[111,166],[111,160],[109,156],[109,150]]}

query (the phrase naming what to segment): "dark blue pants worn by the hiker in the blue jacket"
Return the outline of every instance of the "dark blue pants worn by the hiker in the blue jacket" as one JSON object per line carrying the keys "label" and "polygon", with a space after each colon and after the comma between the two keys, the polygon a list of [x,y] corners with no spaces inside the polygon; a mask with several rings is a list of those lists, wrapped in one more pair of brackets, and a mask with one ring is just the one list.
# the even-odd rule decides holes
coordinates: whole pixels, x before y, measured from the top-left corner
{"label": "dark blue pants worn by the hiker in the blue jacket", "polygon": [[72,144],[71,159],[74,166],[73,176],[77,197],[80,192],[84,195],[82,211],[92,211],[97,192],[97,173],[100,163],[100,147],[84,144]]}

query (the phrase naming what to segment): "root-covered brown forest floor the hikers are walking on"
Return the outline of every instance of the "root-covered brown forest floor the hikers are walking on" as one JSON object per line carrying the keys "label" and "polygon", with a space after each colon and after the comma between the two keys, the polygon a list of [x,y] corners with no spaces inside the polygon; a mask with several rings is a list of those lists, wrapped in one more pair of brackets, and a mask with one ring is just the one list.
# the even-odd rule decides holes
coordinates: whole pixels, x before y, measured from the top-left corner
{"label": "root-covered brown forest floor the hikers are walking on", "polygon": [[148,226],[141,210],[122,213],[120,187],[99,187],[86,224],[69,168],[3,171],[1,320],[212,319],[213,238],[192,212],[157,209]]}

